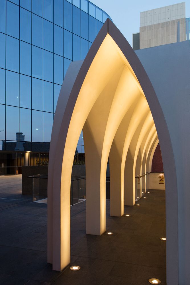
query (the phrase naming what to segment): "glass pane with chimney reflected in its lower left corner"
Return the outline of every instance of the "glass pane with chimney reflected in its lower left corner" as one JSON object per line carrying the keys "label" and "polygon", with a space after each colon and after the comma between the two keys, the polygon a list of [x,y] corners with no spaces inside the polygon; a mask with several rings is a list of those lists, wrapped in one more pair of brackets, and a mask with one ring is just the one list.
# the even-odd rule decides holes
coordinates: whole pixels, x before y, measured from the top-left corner
{"label": "glass pane with chimney reflected in its lower left corner", "polygon": [[31,110],[20,108],[20,133],[23,133],[24,141],[31,141]]}

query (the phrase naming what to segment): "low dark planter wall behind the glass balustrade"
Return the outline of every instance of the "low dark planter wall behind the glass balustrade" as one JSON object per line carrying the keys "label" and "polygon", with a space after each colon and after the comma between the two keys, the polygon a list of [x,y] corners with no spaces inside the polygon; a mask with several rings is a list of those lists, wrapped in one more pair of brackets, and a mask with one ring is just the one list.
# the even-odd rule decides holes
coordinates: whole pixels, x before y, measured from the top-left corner
{"label": "low dark planter wall behind the glass balustrade", "polygon": [[[32,195],[32,178],[28,176],[33,175],[48,175],[48,166],[23,166],[22,167],[22,194],[23,195]],[[73,165],[72,177],[76,176],[85,176],[86,170],[85,165]],[[46,179],[45,179],[46,180]],[[40,179],[40,188],[43,189],[47,187],[47,180]]]}

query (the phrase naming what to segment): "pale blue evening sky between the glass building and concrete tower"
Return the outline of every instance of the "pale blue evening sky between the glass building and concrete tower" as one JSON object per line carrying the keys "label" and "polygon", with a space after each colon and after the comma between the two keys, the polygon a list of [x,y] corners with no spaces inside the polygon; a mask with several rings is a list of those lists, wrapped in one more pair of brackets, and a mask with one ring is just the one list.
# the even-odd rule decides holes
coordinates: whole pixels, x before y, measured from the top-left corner
{"label": "pale blue evening sky between the glass building and concrete tower", "polygon": [[[180,3],[175,0],[91,0],[91,2],[108,13],[130,45],[132,45],[132,33],[139,32],[140,12]],[[185,11],[186,18],[190,17],[189,0],[185,2]]]}

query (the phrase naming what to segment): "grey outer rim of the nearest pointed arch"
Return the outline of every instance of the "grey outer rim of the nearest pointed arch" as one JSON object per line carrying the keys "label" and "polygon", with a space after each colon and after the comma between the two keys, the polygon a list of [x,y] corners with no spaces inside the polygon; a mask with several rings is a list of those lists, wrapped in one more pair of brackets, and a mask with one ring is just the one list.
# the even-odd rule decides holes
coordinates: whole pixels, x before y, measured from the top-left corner
{"label": "grey outer rim of the nearest pointed arch", "polygon": [[[132,67],[143,91],[146,96],[148,105],[152,112],[156,130],[158,133],[158,138],[160,142],[160,148],[162,152],[162,159],[164,164],[164,172],[166,178],[166,235],[167,235],[167,284],[178,285],[178,201],[177,201],[177,176],[175,161],[173,155],[173,148],[171,144],[171,139],[167,127],[166,120],[160,103],[158,101],[157,95],[154,91],[152,83],[144,67],[142,66],[138,56],[124,38],[119,29],[107,19],[101,28],[99,34],[95,38],[85,60],[83,62],[74,62],[75,64],[75,76],[66,84],[63,83],[60,96],[58,99],[58,105],[64,104],[62,119],[60,120],[60,114],[55,113],[54,123],[52,128],[52,136],[55,138],[59,136],[60,131],[63,132],[62,140],[58,141],[57,144],[52,142],[50,144],[50,164],[48,168],[48,200],[52,200],[53,193],[50,191],[53,189],[53,177],[52,173],[54,171],[55,165],[51,165],[51,157],[60,158],[64,152],[64,145],[66,142],[67,131],[69,128],[69,123],[72,115],[72,111],[77,100],[77,96],[85,79],[85,76],[90,68],[90,65],[99,50],[105,36],[109,35],[116,42],[126,59],[128,60],[130,66]],[[65,80],[69,76],[69,70],[66,74]],[[67,92],[65,92],[65,89]],[[65,97],[65,101],[62,102],[61,97]],[[68,99],[68,101],[67,101]],[[63,128],[64,122],[64,128]],[[67,127],[66,127],[67,126]],[[62,153],[60,154],[60,149]],[[57,150],[57,151],[56,151]],[[58,160],[57,160],[58,161]],[[56,170],[61,172],[62,165],[59,163],[56,165]],[[50,189],[50,190],[49,190]],[[54,189],[55,191],[55,189]],[[57,209],[57,211],[59,211]],[[52,263],[52,231],[53,231],[53,206],[52,203],[48,203],[48,262]],[[60,254],[57,252],[57,254]]]}

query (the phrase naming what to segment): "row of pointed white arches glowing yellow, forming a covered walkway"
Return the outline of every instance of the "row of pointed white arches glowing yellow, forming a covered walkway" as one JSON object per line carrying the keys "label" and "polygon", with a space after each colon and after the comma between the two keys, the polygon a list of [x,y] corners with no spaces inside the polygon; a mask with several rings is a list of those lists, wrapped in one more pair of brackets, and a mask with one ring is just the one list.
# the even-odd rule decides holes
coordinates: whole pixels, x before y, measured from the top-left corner
{"label": "row of pointed white arches glowing yellow, forming a covered walkway", "polygon": [[142,174],[150,168],[159,137],[167,191],[167,279],[169,285],[178,284],[176,150],[166,106],[161,107],[158,95],[135,52],[109,19],[85,60],[71,63],[54,117],[48,168],[48,262],[54,270],[70,263],[70,181],[81,130],[86,162],[86,232],[93,235],[106,230],[109,155],[110,213],[122,216],[124,204],[135,203],[136,172]]}

